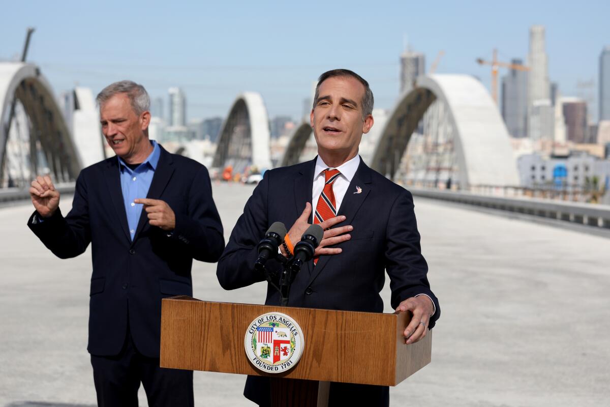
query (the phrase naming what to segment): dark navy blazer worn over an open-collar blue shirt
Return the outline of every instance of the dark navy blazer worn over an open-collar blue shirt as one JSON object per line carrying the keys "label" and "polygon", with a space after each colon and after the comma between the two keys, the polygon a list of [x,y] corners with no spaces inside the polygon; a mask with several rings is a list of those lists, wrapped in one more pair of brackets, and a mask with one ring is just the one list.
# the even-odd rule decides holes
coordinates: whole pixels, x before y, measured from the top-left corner
{"label": "dark navy blazer worn over an open-collar blue shirt", "polygon": [[206,167],[161,147],[146,197],[169,204],[176,228],[168,236],[149,225],[142,210],[131,241],[118,166],[114,156],[85,168],[76,181],[70,213],[63,217],[58,209],[37,222],[34,212],[28,226],[62,259],[78,256],[91,242],[88,351],[118,355],[129,323],[138,351],[158,358],[161,298],[192,295],[193,259],[218,260],[223,228]]}

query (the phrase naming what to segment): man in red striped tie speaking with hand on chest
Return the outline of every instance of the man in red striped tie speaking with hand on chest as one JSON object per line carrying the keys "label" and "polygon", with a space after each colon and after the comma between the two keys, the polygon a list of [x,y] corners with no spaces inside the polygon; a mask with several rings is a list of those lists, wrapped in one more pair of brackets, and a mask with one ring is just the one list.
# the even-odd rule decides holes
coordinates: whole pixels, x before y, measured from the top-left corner
{"label": "man in red striped tie speaking with hand on chest", "polygon": [[[323,239],[314,261],[296,276],[289,306],[382,312],[379,292],[387,271],[392,307],[413,313],[404,331],[405,343],[412,344],[434,326],[440,308],[426,277],[411,193],[358,156],[362,134],[373,126],[372,110],[373,93],[356,73],[333,70],[320,76],[310,114],[318,156],[265,173],[231,233],[217,276],[224,289],[264,281],[253,264],[257,243],[271,223],[292,225],[281,248],[284,256],[310,223],[319,223]],[[281,268],[274,260],[267,267]],[[271,287],[265,304],[279,304]],[[329,405],[387,406],[388,390],[332,383]],[[244,395],[269,405],[269,380],[249,376]]]}

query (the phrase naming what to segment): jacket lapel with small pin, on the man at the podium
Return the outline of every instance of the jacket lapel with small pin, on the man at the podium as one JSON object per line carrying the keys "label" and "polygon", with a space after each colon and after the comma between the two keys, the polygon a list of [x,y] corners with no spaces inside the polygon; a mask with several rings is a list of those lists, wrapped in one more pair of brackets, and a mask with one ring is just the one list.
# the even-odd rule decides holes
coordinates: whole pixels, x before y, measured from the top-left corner
{"label": "jacket lapel with small pin, on the man at the podium", "polygon": [[[360,188],[361,192],[357,192],[358,187]],[[350,186],[345,192],[345,196],[343,196],[343,201],[339,207],[339,212],[337,212],[337,215],[345,215],[345,222],[342,222],[337,226],[352,225],[356,213],[362,206],[362,203],[364,203],[364,200],[367,198],[370,190],[371,169],[364,164],[364,161],[361,158],[360,165],[358,165],[354,178],[351,179]],[[326,264],[332,261],[332,258],[335,256],[341,256],[341,254],[320,256],[318,263],[315,265],[315,267],[313,267],[314,270],[310,276],[309,284],[307,284],[308,286],[314,281],[318,274],[320,274]],[[308,264],[310,263],[313,264],[313,262],[308,262]]]}

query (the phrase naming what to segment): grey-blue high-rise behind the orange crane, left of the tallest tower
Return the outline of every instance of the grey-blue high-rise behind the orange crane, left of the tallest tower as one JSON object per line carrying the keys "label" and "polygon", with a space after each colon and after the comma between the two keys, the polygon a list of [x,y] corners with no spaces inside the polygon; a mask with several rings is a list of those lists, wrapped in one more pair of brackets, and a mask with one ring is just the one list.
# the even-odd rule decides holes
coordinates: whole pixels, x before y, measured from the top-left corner
{"label": "grey-blue high-rise behind the orange crane, left of the tallest tower", "polygon": [[[523,65],[523,62],[513,59],[512,64]],[[512,69],[502,78],[502,117],[512,137],[526,137],[528,131],[527,75],[527,71]]]}

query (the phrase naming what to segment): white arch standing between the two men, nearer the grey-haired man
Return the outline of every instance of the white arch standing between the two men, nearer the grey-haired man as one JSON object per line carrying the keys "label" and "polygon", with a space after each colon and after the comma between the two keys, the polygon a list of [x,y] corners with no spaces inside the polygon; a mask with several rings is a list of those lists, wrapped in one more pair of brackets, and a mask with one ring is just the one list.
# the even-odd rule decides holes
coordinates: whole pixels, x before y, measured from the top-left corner
{"label": "white arch standing between the two men, nearer the grey-haired man", "polygon": [[[247,129],[243,128],[244,126]],[[245,131],[245,133],[237,134],[239,131]],[[237,135],[238,140],[234,140],[234,135]],[[245,140],[239,140],[241,135],[245,137]],[[269,119],[262,96],[256,92],[244,92],[235,98],[229,115],[220,129],[212,167],[234,164],[228,163],[228,160],[237,159],[241,160],[238,165],[244,167],[243,163],[247,160],[251,161],[249,164],[255,165],[259,170],[271,168],[270,138]],[[242,148],[242,146],[232,145],[232,142],[245,144]],[[242,151],[231,152],[230,149],[235,147]],[[239,154],[239,157],[236,158],[233,153]]]}

